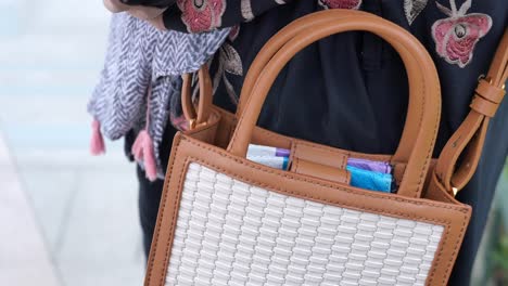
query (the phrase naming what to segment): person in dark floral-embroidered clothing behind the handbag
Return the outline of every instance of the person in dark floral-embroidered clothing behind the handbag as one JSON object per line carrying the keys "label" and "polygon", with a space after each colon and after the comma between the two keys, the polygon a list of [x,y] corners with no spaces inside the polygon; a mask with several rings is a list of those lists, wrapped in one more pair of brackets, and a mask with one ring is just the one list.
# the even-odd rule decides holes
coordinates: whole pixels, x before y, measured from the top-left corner
{"label": "person in dark floral-embroidered clothing behind the handbag", "polygon": [[[126,0],[122,4],[116,12],[152,8],[149,15],[132,15],[142,14],[163,30],[198,35],[228,28],[228,37],[211,61],[211,76],[214,103],[229,110],[236,108],[246,70],[258,51],[290,22],[325,9],[352,9],[396,23],[424,44],[439,72],[443,108],[434,157],[469,112],[478,77],[486,73],[508,20],[508,2],[497,0]],[[355,31],[328,37],[306,48],[282,69],[258,125],[344,150],[393,154],[408,102],[405,75],[397,53],[374,35]],[[492,119],[478,171],[457,196],[472,206],[473,214],[449,285],[470,283],[496,182],[508,154],[506,126],[505,101]],[[163,170],[177,127],[168,123],[164,129],[157,150]],[[126,135],[128,153],[136,135],[136,130]],[[137,173],[148,253],[164,181],[147,179],[140,166]]]}

